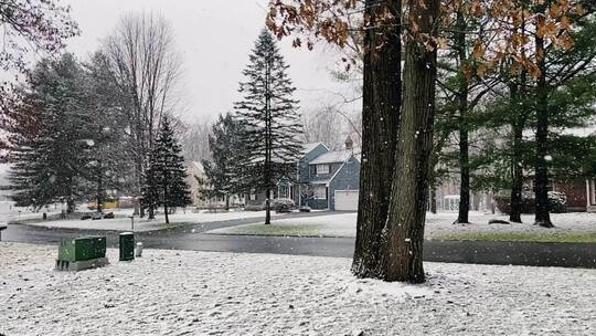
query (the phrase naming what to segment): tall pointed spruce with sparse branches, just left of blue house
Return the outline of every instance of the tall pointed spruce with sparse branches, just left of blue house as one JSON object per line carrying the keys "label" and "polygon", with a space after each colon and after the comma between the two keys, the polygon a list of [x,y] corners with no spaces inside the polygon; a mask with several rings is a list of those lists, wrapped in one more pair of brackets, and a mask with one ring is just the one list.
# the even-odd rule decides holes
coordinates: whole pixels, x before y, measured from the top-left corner
{"label": "tall pointed spruce with sparse branches, just left of blue house", "polygon": [[243,99],[235,104],[241,133],[242,180],[247,188],[265,191],[266,218],[270,223],[272,190],[281,177],[295,176],[300,155],[300,120],[296,90],[287,74],[288,65],[279,53],[274,38],[263,30],[241,83]]}

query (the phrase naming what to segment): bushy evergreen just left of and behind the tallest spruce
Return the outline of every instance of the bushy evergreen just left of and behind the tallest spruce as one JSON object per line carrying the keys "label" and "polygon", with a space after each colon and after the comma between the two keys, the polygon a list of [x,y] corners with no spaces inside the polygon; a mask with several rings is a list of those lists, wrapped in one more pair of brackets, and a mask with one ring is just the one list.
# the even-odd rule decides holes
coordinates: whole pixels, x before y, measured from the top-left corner
{"label": "bushy evergreen just left of and behind the tallest spruce", "polygon": [[230,209],[230,197],[241,191],[237,165],[242,144],[238,141],[241,125],[232,114],[220,118],[209,135],[209,149],[212,160],[203,160],[209,188],[204,190],[207,197],[225,198],[225,209]]}

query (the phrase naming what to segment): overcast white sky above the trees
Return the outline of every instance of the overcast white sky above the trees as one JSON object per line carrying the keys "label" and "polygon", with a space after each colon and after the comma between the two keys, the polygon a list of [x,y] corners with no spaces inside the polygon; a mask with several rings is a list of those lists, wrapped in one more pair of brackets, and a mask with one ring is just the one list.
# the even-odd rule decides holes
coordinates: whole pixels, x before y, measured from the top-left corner
{"label": "overcast white sky above the trees", "polygon": [[[267,0],[62,0],[72,6],[81,36],[72,39],[68,50],[85,59],[109,34],[121,14],[153,11],[170,21],[183,60],[182,112],[188,122],[213,119],[231,111],[238,98],[238,82],[248,53],[264,28]],[[290,77],[298,88],[301,107],[309,111],[324,103],[341,102],[332,92],[345,92],[334,83],[329,70],[337,55],[292,49],[289,40],[280,48],[290,65]],[[352,107],[354,108],[354,107]],[[355,107],[358,108],[358,107]]]}

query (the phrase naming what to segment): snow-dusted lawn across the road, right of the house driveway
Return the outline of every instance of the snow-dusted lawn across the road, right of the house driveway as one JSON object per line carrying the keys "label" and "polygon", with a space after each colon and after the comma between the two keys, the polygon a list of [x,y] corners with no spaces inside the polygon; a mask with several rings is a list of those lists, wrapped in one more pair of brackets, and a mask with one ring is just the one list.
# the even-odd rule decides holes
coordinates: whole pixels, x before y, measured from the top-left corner
{"label": "snow-dusted lawn across the road, right of the house driveway", "polygon": [[[490,219],[507,220],[503,214],[485,214],[478,211],[470,212],[470,224],[453,224],[457,212],[439,212],[426,214],[425,237],[427,239],[440,238],[454,233],[577,233],[596,232],[596,213],[570,212],[552,213],[554,229],[544,230],[532,225],[533,216],[522,216],[523,224],[488,224]],[[299,219],[280,219],[272,223],[270,228],[262,224],[246,224],[209,231],[215,234],[279,234],[279,235],[310,235],[310,237],[355,237],[356,213],[338,213],[324,217],[310,217]],[[264,228],[265,227],[265,228]]]}

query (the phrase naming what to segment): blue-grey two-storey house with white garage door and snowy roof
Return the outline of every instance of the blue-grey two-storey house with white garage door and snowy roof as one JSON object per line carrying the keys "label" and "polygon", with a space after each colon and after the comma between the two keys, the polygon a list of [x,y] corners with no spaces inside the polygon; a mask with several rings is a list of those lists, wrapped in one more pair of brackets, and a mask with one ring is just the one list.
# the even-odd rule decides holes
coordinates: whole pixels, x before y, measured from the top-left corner
{"label": "blue-grey two-storey house with white garage door and snowy roof", "polygon": [[[358,210],[360,156],[350,138],[341,150],[330,150],[322,143],[305,144],[296,165],[297,176],[281,178],[273,190],[274,199],[290,198],[312,209]],[[263,192],[247,197],[248,203],[264,201]]]}

